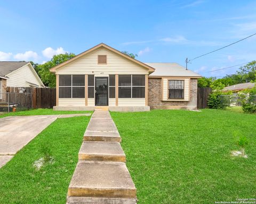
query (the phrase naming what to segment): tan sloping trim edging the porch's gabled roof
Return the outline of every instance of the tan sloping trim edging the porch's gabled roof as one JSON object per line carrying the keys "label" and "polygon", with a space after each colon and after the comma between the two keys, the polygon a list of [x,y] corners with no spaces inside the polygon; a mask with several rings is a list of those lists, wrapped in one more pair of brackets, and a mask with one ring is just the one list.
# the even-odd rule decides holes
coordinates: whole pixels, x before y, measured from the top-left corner
{"label": "tan sloping trim edging the porch's gabled roof", "polygon": [[99,49],[99,48],[105,48],[106,50],[109,50],[109,51],[111,51],[111,52],[114,52],[115,54],[120,55],[120,56],[122,56],[123,58],[125,58],[125,59],[127,59],[127,60],[130,60],[131,62],[133,62],[133,63],[135,63],[135,64],[138,64],[139,66],[141,66],[141,67],[143,67],[143,68],[145,68],[145,69],[148,69],[149,72],[155,71],[154,68],[148,66],[147,64],[145,64],[145,63],[143,63],[143,62],[141,62],[141,61],[139,61],[139,60],[135,60],[135,59],[131,58],[130,56],[128,56],[127,54],[124,54],[124,53],[122,53],[122,52],[116,50],[115,48],[110,47],[110,46],[108,46],[108,45],[106,45],[106,44],[104,44],[104,43],[100,43],[99,45],[96,45],[96,46],[90,48],[89,50],[86,50],[85,52],[82,52],[82,53],[80,53],[80,54],[74,56],[74,58],[71,58],[70,60],[67,60],[66,62],[63,62],[63,63],[59,64],[58,66],[55,66],[55,67],[51,68],[50,71],[51,71],[51,72],[55,72],[57,69],[60,69],[61,67],[66,66],[67,64],[69,64],[69,63],[71,63],[71,62],[74,62],[75,60],[81,58],[82,56],[84,56],[84,55],[86,55],[86,54],[89,54],[89,53],[91,53],[91,52],[93,52],[93,51],[95,51],[95,50],[97,50],[97,49]]}

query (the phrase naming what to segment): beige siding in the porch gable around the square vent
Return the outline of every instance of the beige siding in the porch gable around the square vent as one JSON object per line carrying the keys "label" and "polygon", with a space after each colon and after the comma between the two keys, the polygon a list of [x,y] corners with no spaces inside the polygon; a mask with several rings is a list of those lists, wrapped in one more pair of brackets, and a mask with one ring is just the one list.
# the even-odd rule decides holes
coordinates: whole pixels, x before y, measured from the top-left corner
{"label": "beige siding in the porch gable around the square vent", "polygon": [[[107,64],[98,64],[98,55],[107,55]],[[109,74],[148,74],[148,70],[111,51],[100,48],[56,70],[56,74],[94,74],[103,76]]]}

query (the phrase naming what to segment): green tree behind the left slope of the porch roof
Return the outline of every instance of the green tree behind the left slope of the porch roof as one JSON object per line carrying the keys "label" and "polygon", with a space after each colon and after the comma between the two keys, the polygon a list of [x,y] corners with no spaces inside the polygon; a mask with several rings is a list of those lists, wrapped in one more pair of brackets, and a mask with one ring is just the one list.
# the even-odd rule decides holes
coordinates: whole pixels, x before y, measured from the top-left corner
{"label": "green tree behind the left slope of the porch roof", "polygon": [[57,66],[58,64],[61,64],[62,62],[65,62],[71,58],[74,58],[74,56],[76,56],[74,53],[58,54],[58,55],[54,55],[50,61],[44,64],[39,64],[37,66],[38,74],[41,77],[43,83],[46,86],[55,87],[56,77],[52,72],[50,72],[50,69]]}

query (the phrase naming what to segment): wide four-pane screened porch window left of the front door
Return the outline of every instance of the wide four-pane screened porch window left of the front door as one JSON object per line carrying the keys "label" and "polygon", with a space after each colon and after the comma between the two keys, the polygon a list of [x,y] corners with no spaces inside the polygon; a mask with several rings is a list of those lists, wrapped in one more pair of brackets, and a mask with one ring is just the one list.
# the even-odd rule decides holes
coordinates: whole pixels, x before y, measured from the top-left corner
{"label": "wide four-pane screened porch window left of the front door", "polygon": [[84,98],[84,75],[60,75],[60,98]]}

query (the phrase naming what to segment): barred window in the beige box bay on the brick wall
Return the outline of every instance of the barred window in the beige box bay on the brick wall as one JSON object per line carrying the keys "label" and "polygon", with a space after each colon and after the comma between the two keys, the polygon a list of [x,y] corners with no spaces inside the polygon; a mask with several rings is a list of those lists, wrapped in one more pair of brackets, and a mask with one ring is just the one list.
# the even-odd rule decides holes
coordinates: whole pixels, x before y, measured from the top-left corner
{"label": "barred window in the beige box bay on the brick wall", "polygon": [[184,99],[184,80],[169,80],[169,99]]}

